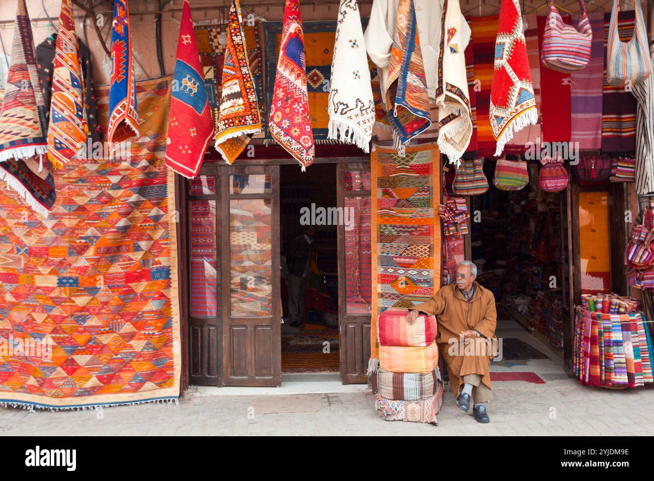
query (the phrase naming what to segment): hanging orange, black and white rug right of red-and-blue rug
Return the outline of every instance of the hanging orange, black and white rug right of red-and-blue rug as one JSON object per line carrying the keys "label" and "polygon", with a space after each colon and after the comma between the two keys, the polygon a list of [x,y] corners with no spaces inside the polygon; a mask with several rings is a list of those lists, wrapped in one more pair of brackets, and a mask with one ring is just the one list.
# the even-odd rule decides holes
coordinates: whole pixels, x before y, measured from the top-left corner
{"label": "hanging orange, black and white rug right of red-and-blue rug", "polygon": [[232,0],[230,6],[221,90],[216,150],[225,162],[232,164],[247,147],[249,135],[262,130],[239,0]]}

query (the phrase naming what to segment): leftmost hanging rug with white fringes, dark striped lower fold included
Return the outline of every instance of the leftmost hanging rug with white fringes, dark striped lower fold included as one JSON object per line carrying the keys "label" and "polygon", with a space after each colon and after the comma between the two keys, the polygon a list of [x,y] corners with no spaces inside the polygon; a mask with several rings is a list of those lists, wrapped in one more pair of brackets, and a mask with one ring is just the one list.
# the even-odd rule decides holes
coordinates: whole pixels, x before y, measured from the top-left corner
{"label": "leftmost hanging rug with white fringes, dark striped lower fold included", "polygon": [[18,1],[7,88],[0,109],[0,180],[33,211],[48,215],[56,200],[46,158],[47,121],[24,0]]}

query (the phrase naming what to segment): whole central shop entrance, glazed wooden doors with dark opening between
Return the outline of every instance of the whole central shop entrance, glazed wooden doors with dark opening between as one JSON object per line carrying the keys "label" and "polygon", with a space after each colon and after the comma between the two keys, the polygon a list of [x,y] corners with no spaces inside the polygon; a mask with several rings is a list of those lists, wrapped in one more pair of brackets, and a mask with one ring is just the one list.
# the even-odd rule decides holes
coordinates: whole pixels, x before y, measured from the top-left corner
{"label": "whole central shop entrance, glazed wooden doors with dark opening between", "polygon": [[[264,162],[205,163],[182,183],[190,383],[277,386],[283,372],[329,371],[365,383],[370,163],[318,159],[302,173],[294,161]],[[309,225],[292,319],[288,260]]]}

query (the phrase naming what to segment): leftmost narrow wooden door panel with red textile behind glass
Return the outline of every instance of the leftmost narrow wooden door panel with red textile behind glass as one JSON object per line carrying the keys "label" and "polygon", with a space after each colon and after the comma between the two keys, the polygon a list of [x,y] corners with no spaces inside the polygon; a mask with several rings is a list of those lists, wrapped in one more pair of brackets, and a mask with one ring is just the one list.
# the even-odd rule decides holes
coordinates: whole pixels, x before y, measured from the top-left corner
{"label": "leftmost narrow wooden door panel with red textile behind glass", "polygon": [[216,166],[203,166],[198,177],[184,182],[186,239],[184,313],[188,319],[190,383],[222,386],[222,300],[220,297],[220,181]]}

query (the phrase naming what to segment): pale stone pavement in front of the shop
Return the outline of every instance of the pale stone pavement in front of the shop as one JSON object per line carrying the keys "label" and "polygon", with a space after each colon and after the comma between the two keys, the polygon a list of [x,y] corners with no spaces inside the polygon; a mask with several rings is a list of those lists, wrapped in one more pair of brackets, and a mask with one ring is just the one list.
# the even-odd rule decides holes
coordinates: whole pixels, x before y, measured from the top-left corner
{"label": "pale stone pavement in front of the shop", "polygon": [[[499,321],[496,333],[498,337],[521,338],[552,359],[492,363],[492,371],[536,372],[545,383],[493,382],[494,399],[488,406],[490,423],[486,425],[456,408],[450,392],[443,397],[439,425],[433,427],[379,418],[370,391],[345,390],[296,398],[288,391],[283,395],[260,395],[252,388],[252,395],[229,395],[232,388],[192,387],[177,405],[60,412],[0,408],[0,436],[654,435],[654,389],[580,386],[564,374],[562,361],[515,321]],[[301,412],[275,413],[276,408]]]}

